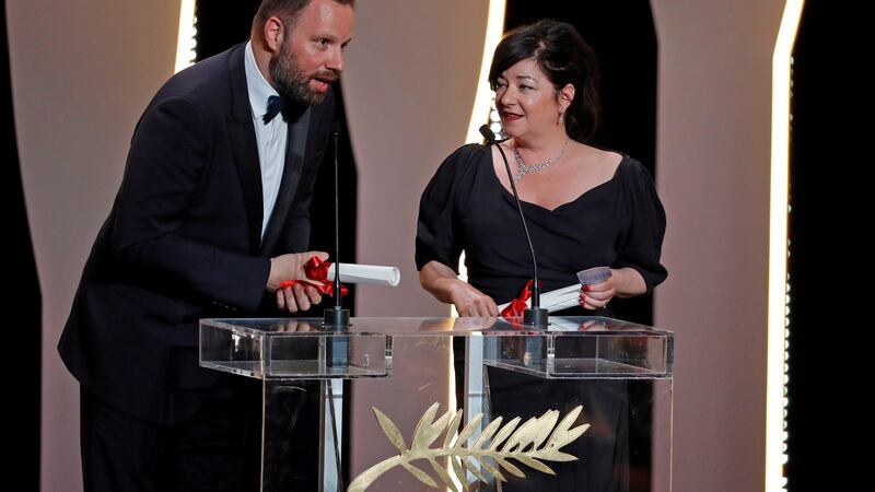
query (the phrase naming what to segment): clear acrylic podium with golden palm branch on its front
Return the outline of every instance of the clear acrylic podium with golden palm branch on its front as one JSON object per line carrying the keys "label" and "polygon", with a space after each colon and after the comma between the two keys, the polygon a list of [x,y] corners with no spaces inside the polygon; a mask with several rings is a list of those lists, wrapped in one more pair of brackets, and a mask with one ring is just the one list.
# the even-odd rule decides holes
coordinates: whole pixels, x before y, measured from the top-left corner
{"label": "clear acrylic podium with golden palm branch on its front", "polygon": [[669,331],[320,321],[200,321],[202,366],[260,380],[265,492],[672,490]]}

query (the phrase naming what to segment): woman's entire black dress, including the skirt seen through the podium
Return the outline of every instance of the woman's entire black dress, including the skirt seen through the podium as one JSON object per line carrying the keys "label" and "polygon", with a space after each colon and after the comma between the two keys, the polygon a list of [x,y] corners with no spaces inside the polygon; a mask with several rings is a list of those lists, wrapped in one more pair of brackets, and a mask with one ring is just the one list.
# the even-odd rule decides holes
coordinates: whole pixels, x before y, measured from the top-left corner
{"label": "woman's entire black dress, including the skirt seen through the podium", "polygon": [[[608,181],[555,210],[523,202],[537,253],[542,292],[578,283],[580,270],[634,268],[648,292],[666,278],[660,263],[665,211],[653,178],[623,155]],[[465,145],[450,155],[429,183],[419,209],[417,267],[440,261],[458,271],[465,251],[468,281],[503,304],[532,277],[532,257],[513,196],[501,185],[490,149]],[[563,315],[585,313],[580,306]],[[653,390],[648,380],[544,379],[486,367],[485,385],[494,415],[526,420],[546,409],[565,414],[582,405],[592,429],[564,452],[581,458],[550,462],[556,476],[526,469],[526,479],[505,473],[508,492],[650,490]],[[581,423],[579,422],[579,423]]]}

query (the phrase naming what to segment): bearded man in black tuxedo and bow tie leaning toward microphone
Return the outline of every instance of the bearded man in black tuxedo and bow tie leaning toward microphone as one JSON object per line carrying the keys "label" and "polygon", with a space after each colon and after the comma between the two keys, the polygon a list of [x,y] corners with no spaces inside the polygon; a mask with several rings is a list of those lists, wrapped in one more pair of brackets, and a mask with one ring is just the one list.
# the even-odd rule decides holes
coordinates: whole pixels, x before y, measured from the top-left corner
{"label": "bearded man in black tuxedo and bow tie leaning toward microphone", "polygon": [[174,75],[140,118],[58,345],[85,490],[243,487],[252,395],[198,366],[197,323],[320,301],[279,286],[327,258],[303,251],[353,1],[264,0],[248,43]]}

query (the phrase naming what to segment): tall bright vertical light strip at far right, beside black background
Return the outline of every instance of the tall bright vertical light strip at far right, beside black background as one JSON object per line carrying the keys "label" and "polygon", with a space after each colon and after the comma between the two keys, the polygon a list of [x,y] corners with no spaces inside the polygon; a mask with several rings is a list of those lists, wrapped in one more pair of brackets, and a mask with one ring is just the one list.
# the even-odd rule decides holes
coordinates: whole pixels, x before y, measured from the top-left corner
{"label": "tall bright vertical light strip at far right, beside black background", "polygon": [[769,203],[769,313],[766,379],[766,491],[786,490],[786,258],[790,169],[790,63],[803,0],[788,0],[772,57],[772,166]]}

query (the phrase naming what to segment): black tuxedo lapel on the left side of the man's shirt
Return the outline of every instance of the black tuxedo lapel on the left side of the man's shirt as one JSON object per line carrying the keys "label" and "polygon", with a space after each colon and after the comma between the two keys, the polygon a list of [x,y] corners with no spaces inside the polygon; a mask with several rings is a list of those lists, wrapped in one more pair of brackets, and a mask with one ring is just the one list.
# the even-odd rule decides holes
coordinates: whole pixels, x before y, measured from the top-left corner
{"label": "black tuxedo lapel on the left side of the man's shirt", "polygon": [[261,221],[264,199],[261,190],[261,167],[258,164],[258,143],[255,140],[252,108],[246,87],[246,70],[243,56],[246,45],[237,46],[229,56],[231,77],[231,116],[228,121],[234,164],[246,204],[246,220],[249,231],[249,251],[258,255],[261,244]]}

